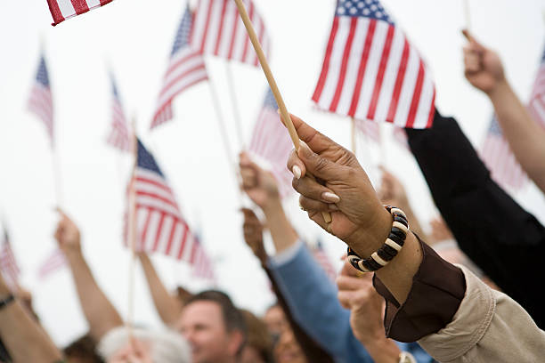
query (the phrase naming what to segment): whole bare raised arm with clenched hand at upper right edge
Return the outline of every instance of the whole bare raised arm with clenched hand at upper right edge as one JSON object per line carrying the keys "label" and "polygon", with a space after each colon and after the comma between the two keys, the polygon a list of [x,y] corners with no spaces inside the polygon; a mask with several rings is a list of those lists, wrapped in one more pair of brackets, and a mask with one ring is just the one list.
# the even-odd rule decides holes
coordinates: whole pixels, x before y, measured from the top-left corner
{"label": "whole bare raised arm with clenched hand at upper right edge", "polygon": [[[468,36],[468,32],[464,31]],[[535,122],[509,85],[500,57],[471,36],[464,48],[466,78],[494,106],[501,129],[530,179],[545,193],[545,129]]]}

